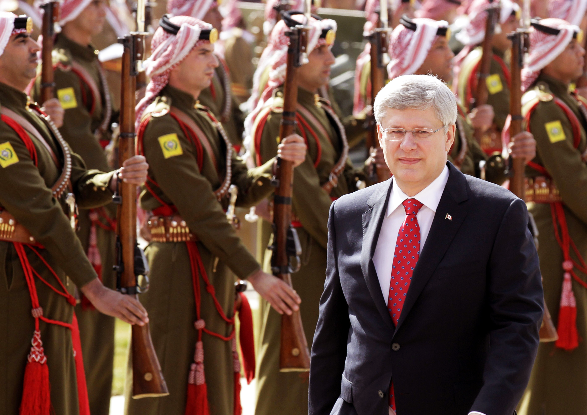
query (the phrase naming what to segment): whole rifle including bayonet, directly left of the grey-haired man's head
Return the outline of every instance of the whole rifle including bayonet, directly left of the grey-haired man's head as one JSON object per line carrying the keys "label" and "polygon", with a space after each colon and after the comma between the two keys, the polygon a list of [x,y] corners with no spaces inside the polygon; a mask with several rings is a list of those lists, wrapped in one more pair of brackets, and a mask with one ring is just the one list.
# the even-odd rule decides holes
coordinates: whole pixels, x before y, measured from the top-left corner
{"label": "whole rifle including bayonet, directly left of the grey-haired man's head", "polygon": [[[371,44],[371,106],[375,103],[375,96],[383,88],[385,83],[385,71],[387,67],[387,55],[389,50],[389,28],[387,28],[387,0],[380,0],[379,23],[371,33],[369,33],[369,43]],[[377,122],[375,114],[369,116],[369,130],[367,131],[367,145],[379,149],[379,137],[377,136]],[[370,166],[371,176],[377,176],[378,182],[384,182],[391,177],[391,172],[387,167],[377,167],[375,164]]]}

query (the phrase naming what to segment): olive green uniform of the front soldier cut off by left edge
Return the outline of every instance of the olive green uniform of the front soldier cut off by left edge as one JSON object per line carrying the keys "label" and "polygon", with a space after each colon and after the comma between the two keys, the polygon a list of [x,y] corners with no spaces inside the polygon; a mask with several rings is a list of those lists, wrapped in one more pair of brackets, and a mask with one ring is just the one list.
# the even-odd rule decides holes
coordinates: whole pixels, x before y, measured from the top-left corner
{"label": "olive green uniform of the front soldier cut off by left edge", "polygon": [[[0,83],[0,101],[3,107],[28,120],[63,164],[58,142],[41,118],[26,108],[26,95]],[[96,273],[66,216],[69,206],[65,203],[65,194],[57,200],[50,191],[62,169],[35,135],[29,134],[29,137],[37,154],[37,166],[16,132],[0,123],[0,148],[4,150],[0,153],[0,205],[45,247],[39,252],[71,293],[73,284],[82,287],[96,278]],[[72,155],[71,181],[80,208],[95,208],[108,203],[112,198],[108,188],[111,178],[112,174],[86,171],[82,159]],[[58,287],[55,277],[36,254],[29,248],[25,250],[32,268]],[[0,414],[15,415],[21,404],[26,358],[31,350],[35,320],[31,316],[31,297],[23,268],[14,244],[8,241],[0,241],[0,280]],[[38,278],[35,280],[43,315],[70,324],[73,317],[70,304]],[[55,414],[77,415],[77,383],[70,331],[45,322],[41,322],[40,327],[49,366],[53,410]]]}

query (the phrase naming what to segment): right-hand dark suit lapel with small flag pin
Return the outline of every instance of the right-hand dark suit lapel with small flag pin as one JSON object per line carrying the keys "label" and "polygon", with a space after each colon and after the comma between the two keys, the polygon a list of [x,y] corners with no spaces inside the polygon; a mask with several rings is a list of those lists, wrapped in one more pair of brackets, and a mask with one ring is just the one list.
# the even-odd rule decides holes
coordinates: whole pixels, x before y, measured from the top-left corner
{"label": "right-hand dark suit lapel with small flag pin", "polygon": [[[444,253],[453,241],[458,229],[463,224],[467,210],[459,203],[467,200],[467,179],[452,164],[448,163],[450,174],[443,195],[438,203],[436,214],[430,227],[426,243],[421,250],[420,258],[411,278],[410,288],[407,291],[406,302],[402,314],[397,322],[397,329],[406,320],[411,308],[416,303],[420,293],[442,260]],[[447,214],[452,219],[447,218]]]}

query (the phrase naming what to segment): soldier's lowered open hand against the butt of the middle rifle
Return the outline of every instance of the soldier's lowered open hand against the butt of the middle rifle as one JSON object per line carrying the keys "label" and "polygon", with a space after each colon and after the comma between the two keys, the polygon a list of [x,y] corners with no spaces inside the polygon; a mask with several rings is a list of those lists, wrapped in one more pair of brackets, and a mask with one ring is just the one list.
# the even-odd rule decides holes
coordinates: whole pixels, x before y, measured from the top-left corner
{"label": "soldier's lowered open hand against the butt of the middle rifle", "polygon": [[302,302],[299,295],[292,287],[280,280],[274,275],[269,275],[258,270],[247,278],[253,285],[255,291],[269,301],[271,307],[275,308],[279,314],[291,315],[293,311],[298,311],[298,304]]}

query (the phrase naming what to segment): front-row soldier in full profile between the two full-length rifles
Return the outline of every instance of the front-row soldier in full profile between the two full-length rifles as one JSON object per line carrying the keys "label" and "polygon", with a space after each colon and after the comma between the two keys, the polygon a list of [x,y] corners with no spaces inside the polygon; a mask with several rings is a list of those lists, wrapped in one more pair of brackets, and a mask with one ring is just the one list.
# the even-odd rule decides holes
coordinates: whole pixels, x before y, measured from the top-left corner
{"label": "front-row soldier in full profile between the two full-length rifles", "polygon": [[[269,195],[276,159],[247,171],[221,124],[197,101],[218,65],[215,36],[193,17],[164,16],[151,43],[151,81],[136,111],[138,150],[151,163],[140,205],[149,211],[153,238],[146,251],[150,290],[141,301],[153,315],[153,344],[170,395],[134,400],[129,387],[127,414],[239,413],[235,275],[278,312],[298,308],[295,291],[261,271],[222,211],[233,192],[244,206]],[[296,165],[305,159],[301,137],[292,135],[279,148]],[[162,232],[170,227],[177,232]]]}

